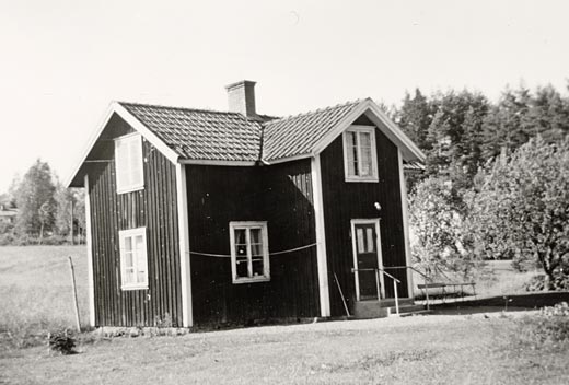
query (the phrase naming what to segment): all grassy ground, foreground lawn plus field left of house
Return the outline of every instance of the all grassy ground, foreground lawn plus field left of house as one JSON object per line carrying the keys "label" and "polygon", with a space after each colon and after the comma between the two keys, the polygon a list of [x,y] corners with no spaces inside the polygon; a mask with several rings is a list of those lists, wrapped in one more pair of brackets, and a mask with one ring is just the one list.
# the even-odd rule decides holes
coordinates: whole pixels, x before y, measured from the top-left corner
{"label": "all grassy ground, foreground lawn plus field left of house", "polygon": [[83,248],[0,248],[0,384],[569,383],[568,345],[527,339],[522,320],[536,312],[502,313],[501,305],[178,337],[84,334],[72,355],[8,343],[5,331],[18,325],[31,332],[73,324],[68,255],[84,310]]}

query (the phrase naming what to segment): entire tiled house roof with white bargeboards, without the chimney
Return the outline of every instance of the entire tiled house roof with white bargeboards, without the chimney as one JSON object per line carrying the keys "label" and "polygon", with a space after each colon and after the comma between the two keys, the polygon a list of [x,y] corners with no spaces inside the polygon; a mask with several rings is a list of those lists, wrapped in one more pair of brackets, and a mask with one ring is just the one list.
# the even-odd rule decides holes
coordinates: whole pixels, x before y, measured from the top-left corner
{"label": "entire tiled house roof with white bargeboards, without the chimney", "polygon": [[89,156],[115,115],[173,163],[249,166],[314,156],[362,115],[402,151],[405,162],[425,161],[415,143],[370,98],[280,119],[114,102],[68,186],[82,186],[85,164],[97,161]]}

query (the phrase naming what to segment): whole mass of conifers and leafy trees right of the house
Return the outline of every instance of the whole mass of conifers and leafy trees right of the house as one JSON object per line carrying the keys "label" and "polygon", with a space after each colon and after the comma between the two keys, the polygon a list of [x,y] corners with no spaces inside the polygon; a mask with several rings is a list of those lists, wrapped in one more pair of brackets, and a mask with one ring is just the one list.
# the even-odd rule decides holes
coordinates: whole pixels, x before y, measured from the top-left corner
{"label": "whole mass of conifers and leafy trees right of the house", "polygon": [[427,156],[407,180],[417,264],[468,276],[512,258],[569,289],[569,97],[551,85],[508,88],[496,103],[416,90],[390,114]]}

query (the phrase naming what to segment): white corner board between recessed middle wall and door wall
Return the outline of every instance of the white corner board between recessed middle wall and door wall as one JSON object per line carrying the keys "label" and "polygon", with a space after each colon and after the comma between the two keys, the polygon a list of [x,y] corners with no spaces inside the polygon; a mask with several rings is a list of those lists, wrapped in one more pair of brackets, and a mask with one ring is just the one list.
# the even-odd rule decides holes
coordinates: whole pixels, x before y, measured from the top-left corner
{"label": "white corner board between recessed middle wall and door wall", "polygon": [[311,161],[312,191],[314,199],[314,224],[316,226],[316,260],[318,266],[318,295],[321,316],[330,316],[330,294],[328,283],[328,259],[326,256],[326,231],[324,203],[322,199],[322,172],[320,155]]}

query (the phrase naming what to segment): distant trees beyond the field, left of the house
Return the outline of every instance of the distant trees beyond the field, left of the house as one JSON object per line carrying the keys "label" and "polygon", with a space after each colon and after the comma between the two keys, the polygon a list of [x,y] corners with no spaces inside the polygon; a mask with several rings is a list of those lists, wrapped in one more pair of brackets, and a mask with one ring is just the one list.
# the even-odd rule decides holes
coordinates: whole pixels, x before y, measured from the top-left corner
{"label": "distant trees beyond the field, left of the house", "polygon": [[47,162],[14,177],[0,205],[16,212],[15,222],[0,223],[0,244],[84,243],[84,191],[66,188]]}

